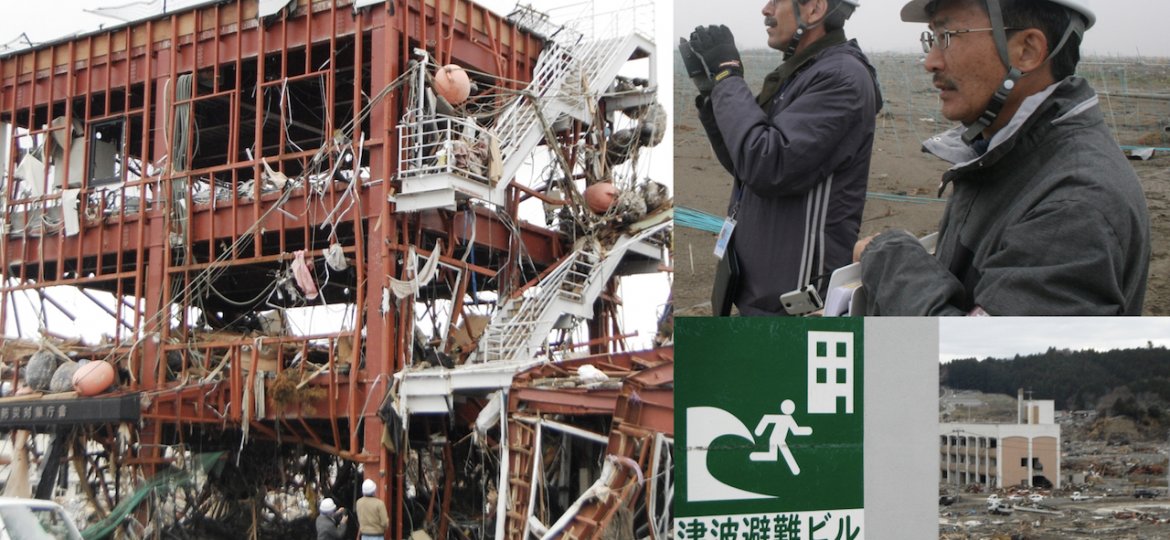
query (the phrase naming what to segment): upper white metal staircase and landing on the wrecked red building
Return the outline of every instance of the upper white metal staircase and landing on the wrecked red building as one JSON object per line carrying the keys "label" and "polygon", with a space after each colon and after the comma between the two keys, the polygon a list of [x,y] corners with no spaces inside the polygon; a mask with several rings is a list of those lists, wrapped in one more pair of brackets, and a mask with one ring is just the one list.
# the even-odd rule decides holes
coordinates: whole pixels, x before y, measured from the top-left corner
{"label": "upper white metal staircase and landing on the wrecked red building", "polygon": [[[503,205],[508,185],[553,124],[570,117],[593,123],[597,101],[632,58],[652,56],[654,43],[638,33],[589,39],[569,27],[556,32],[537,61],[529,85],[504,106],[495,125],[484,129],[464,118],[425,115],[399,125],[398,176],[401,192],[392,196],[399,212],[454,208],[456,198]],[[438,122],[436,122],[438,120]],[[435,131],[434,126],[445,127]],[[420,133],[431,143],[419,144]],[[500,148],[502,171],[494,182],[467,174],[453,164],[429,165],[433,154],[453,140],[491,140]],[[428,164],[428,165],[424,165]]]}

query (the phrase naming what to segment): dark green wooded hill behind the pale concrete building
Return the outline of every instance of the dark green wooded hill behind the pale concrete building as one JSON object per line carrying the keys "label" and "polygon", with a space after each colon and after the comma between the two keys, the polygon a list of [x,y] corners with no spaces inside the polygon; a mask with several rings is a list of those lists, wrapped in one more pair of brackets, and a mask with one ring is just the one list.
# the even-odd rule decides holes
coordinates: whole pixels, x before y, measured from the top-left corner
{"label": "dark green wooded hill behind the pale concrete building", "polygon": [[987,394],[1016,396],[1024,388],[1062,410],[1161,421],[1170,403],[1170,351],[1152,344],[1107,352],[1048,347],[1010,359],[955,360],[941,366],[940,378],[943,386]]}

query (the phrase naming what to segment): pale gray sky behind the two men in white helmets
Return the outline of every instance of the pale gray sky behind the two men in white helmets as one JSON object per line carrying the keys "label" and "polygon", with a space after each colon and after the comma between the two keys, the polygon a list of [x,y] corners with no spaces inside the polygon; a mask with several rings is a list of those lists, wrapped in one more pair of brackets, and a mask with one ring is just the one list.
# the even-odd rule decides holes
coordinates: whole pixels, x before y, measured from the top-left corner
{"label": "pale gray sky behind the two men in white helmets", "polygon": [[[918,34],[924,25],[899,19],[904,0],[861,0],[861,7],[846,25],[846,33],[856,37],[867,51],[921,51]],[[713,6],[718,6],[717,9]],[[698,25],[727,25],[739,48],[766,47],[764,18],[759,14],[764,0],[680,0],[674,20],[675,35],[690,35]],[[1081,53],[1102,56],[1170,57],[1170,2],[1165,0],[1089,0],[1097,16],[1085,37]],[[1107,9],[1108,8],[1108,9]],[[675,40],[677,41],[677,40]]]}

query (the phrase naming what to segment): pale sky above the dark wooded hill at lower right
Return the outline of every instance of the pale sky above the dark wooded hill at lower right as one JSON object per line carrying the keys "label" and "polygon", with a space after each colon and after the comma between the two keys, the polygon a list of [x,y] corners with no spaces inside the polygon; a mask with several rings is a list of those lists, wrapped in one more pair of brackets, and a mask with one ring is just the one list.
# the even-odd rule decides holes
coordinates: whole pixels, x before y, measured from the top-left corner
{"label": "pale sky above the dark wooded hill at lower right", "polygon": [[1081,351],[1170,347],[1165,317],[944,317],[938,320],[938,359],[1011,358],[1048,347]]}

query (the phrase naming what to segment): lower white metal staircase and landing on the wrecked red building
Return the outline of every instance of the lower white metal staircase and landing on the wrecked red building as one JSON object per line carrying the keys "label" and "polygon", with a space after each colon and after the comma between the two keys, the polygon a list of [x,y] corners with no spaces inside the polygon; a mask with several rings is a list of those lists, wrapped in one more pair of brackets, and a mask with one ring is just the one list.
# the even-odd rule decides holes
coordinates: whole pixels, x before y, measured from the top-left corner
{"label": "lower white metal staircase and landing on the wrecked red building", "polygon": [[537,284],[496,310],[466,365],[399,372],[399,413],[449,413],[455,394],[511,386],[516,373],[545,361],[542,352],[557,321],[563,316],[592,319],[593,303],[626,255],[645,252],[645,241],[669,224],[622,236],[604,257],[586,249],[565,256]]}

